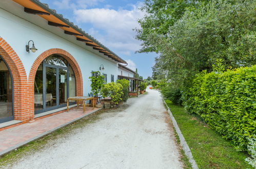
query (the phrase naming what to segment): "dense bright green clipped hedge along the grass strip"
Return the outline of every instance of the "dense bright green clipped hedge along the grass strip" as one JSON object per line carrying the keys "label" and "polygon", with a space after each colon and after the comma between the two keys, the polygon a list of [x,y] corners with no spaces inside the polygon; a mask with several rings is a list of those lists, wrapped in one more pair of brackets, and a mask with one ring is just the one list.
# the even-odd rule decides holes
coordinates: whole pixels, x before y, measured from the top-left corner
{"label": "dense bright green clipped hedge along the grass strip", "polygon": [[183,97],[187,112],[246,150],[256,134],[256,66],[199,74]]}

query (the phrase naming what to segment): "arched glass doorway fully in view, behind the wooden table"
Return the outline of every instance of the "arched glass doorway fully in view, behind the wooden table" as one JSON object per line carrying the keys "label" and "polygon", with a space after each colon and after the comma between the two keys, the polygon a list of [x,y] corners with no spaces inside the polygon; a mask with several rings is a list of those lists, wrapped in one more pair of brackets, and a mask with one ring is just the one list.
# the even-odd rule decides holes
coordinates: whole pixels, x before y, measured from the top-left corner
{"label": "arched glass doorway fully in view, behind the wooden table", "polygon": [[66,106],[67,98],[76,96],[76,77],[71,64],[60,54],[46,57],[34,78],[35,114]]}

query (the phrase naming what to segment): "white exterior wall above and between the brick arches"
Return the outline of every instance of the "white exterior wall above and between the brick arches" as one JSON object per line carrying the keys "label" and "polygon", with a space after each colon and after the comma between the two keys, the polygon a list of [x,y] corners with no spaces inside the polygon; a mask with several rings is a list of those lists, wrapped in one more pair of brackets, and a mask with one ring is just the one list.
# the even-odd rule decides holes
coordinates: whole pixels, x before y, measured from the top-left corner
{"label": "white exterior wall above and between the brick arches", "polygon": [[[27,77],[33,62],[41,53],[52,48],[60,48],[69,52],[80,66],[84,96],[88,96],[91,90],[91,71],[100,71],[100,65],[104,65],[105,70],[101,73],[107,74],[107,82],[110,82],[111,74],[114,75],[114,80],[117,79],[117,62],[77,41],[75,36],[64,34],[64,30],[49,26],[48,21],[42,17],[24,12],[24,7],[11,0],[0,1],[0,36],[22,60]],[[29,40],[33,40],[35,48],[38,49],[35,53],[28,53],[25,50]]]}

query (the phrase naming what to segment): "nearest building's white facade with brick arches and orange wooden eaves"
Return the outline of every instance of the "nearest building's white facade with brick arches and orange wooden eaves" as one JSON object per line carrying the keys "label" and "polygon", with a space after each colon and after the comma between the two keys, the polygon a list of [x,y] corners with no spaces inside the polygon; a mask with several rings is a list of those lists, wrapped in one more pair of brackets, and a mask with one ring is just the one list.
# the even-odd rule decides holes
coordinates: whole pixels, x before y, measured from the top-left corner
{"label": "nearest building's white facade with brick arches and orange wooden eaves", "polygon": [[126,64],[36,0],[0,1],[0,23],[0,123],[64,110],[68,97],[88,96],[93,71],[111,82]]}

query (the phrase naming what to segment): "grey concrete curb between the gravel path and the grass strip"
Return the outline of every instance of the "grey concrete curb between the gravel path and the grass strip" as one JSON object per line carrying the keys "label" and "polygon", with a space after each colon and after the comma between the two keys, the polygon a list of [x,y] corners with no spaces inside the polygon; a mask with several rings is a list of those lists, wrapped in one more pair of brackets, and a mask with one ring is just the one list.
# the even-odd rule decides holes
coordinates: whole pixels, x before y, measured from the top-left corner
{"label": "grey concrete curb between the gravel path and the grass strip", "polygon": [[195,160],[193,159],[192,153],[191,153],[191,151],[189,149],[189,146],[188,146],[185,138],[183,137],[183,135],[181,133],[179,125],[177,124],[175,118],[173,117],[173,115],[172,115],[168,105],[166,104],[165,100],[163,100],[163,101],[164,101],[164,103],[165,103],[165,105],[166,105],[166,107],[168,109],[167,111],[168,111],[168,113],[170,115],[172,124],[173,124],[173,126],[174,126],[174,128],[175,128],[175,130],[176,130],[176,132],[177,132],[177,134],[179,136],[179,138],[180,138],[180,141],[181,141],[181,144],[182,144],[182,148],[183,148],[183,150],[185,152],[185,155],[188,157],[188,160],[189,160],[190,164],[192,165],[192,168],[198,169],[198,165],[196,164]]}

